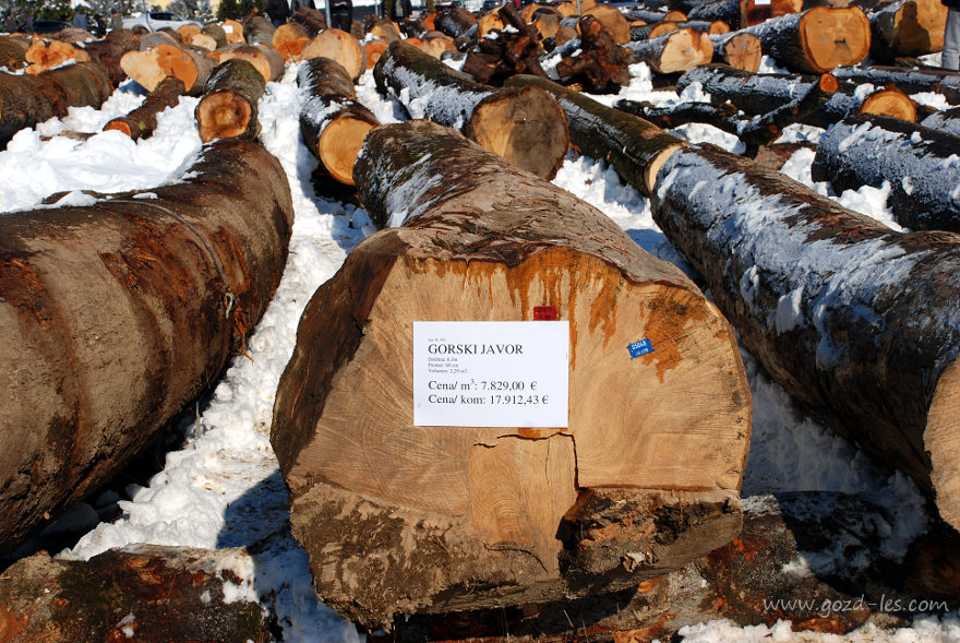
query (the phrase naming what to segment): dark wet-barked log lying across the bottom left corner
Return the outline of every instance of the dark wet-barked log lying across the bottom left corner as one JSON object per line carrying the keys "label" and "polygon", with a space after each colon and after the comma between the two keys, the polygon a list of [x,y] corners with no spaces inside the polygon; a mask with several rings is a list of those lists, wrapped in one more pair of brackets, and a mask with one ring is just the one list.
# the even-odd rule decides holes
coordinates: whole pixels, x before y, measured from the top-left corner
{"label": "dark wet-barked log lying across the bottom left corner", "polygon": [[21,643],[267,643],[261,605],[228,602],[228,587],[248,582],[231,571],[241,557],[249,559],[238,549],[139,545],[88,561],[25,558],[0,579],[0,629]]}

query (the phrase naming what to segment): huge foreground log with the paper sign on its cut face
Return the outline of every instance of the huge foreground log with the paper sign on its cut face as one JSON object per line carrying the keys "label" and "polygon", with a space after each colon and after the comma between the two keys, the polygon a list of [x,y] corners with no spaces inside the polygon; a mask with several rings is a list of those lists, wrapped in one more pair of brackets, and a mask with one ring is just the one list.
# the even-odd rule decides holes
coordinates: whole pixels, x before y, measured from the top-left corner
{"label": "huge foreground log with the paper sign on its cut face", "polygon": [[[314,294],[271,431],[327,605],[389,629],[416,611],[571,599],[636,587],[736,534],[749,392],[731,330],[680,271],[429,121],[371,131],[355,178],[377,225],[406,223]],[[532,320],[541,305],[569,322],[567,428],[415,425],[413,321]],[[670,355],[627,367],[651,333]],[[622,368],[627,388],[613,384]]]}

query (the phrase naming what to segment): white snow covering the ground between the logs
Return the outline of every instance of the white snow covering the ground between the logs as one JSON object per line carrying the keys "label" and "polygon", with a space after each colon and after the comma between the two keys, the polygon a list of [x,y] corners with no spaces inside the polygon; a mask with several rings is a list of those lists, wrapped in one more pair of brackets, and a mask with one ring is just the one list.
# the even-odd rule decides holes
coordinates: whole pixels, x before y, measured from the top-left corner
{"label": "white snow covering the ground between the logs", "polygon": [[[314,193],[309,177],[315,160],[300,140],[297,115],[302,96],[296,67],[271,83],[260,107],[262,140],[281,162],[290,180],[296,210],[286,272],[263,320],[250,337],[249,357],[233,358],[209,401],[185,428],[181,449],[167,454],[163,472],[145,487],[132,485],[119,499],[121,517],[97,524],[98,515],[116,509],[118,498],[105,493],[81,504],[64,523],[89,523],[91,531],[62,556],[89,558],[132,543],[228,548],[260,541],[252,558],[238,553],[236,570],[247,583],[240,595],[276,595],[285,641],[359,640],[350,623],[317,603],[307,557],[287,531],[286,490],[268,441],[271,414],[280,374],[289,359],[300,314],[313,291],[329,278],[347,253],[374,231],[367,213]],[[620,96],[669,104],[696,98],[655,92],[646,66],[632,68],[633,83]],[[392,100],[377,95],[370,73],[359,87],[360,99],[381,122],[401,119]],[[71,109],[36,130],[14,136],[0,152],[0,212],[36,207],[47,195],[70,191],[61,203],[85,199],[81,189],[100,192],[149,188],[175,179],[194,158],[201,143],[193,109],[195,98],[160,116],[153,138],[131,142],[119,132],[98,133],[85,141],[59,136],[64,130],[98,132],[103,124],[139,105],[134,86],[118,90],[101,109]],[[602,97],[610,103],[615,97]],[[921,97],[922,98],[922,97]],[[936,100],[936,97],[928,97]],[[709,126],[686,126],[676,134],[709,141],[731,151],[740,142]],[[791,129],[788,139],[816,140],[815,128]],[[52,138],[50,138],[52,136]],[[797,152],[784,171],[807,184],[812,152]],[[623,183],[603,162],[569,157],[554,183],[607,213],[647,251],[689,266],[653,224],[648,201]],[[813,186],[828,194],[826,183]],[[837,199],[843,205],[899,228],[885,209],[884,191],[864,188]],[[835,490],[869,496],[896,517],[891,543],[903,543],[927,523],[923,501],[902,475],[875,465],[864,453],[815,421],[803,417],[749,354],[743,352],[754,400],[753,439],[743,496],[784,490]],[[789,623],[772,628],[734,628],[705,623],[684,631],[686,641],[960,641],[960,614],[917,616],[912,628],[881,632],[864,628],[839,638],[793,633]]]}

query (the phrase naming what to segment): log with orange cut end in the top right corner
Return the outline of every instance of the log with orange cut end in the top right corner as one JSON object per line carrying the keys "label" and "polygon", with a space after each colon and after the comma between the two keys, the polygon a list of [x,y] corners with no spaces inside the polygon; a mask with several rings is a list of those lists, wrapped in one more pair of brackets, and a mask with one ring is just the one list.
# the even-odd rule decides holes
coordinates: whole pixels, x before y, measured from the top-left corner
{"label": "log with orange cut end in the top right corner", "polygon": [[944,48],[947,7],[939,0],[897,0],[867,12],[875,62],[916,57]]}

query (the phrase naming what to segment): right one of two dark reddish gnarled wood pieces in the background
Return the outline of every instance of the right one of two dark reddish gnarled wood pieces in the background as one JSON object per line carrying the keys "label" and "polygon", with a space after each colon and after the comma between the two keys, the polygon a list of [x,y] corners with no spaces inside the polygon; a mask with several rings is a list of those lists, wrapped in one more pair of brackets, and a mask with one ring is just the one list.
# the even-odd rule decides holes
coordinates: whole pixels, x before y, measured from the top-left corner
{"label": "right one of two dark reddish gnarled wood pieces in the background", "polygon": [[578,22],[580,52],[564,56],[556,64],[556,73],[564,83],[578,83],[593,94],[616,94],[629,83],[628,67],[634,56],[617,45],[600,21],[585,15]]}

